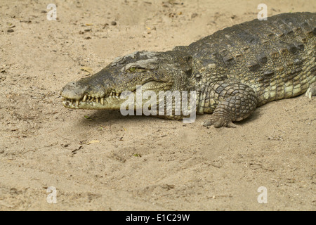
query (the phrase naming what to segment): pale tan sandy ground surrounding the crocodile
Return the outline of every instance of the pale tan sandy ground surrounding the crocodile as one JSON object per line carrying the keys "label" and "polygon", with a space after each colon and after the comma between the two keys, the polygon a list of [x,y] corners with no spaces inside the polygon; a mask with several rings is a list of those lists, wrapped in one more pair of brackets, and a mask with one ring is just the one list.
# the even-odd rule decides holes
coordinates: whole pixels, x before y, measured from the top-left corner
{"label": "pale tan sandy ground surrounding the crocodile", "polygon": [[[46,19],[50,3],[56,21]],[[207,115],[183,124],[68,110],[59,96],[86,77],[81,68],[190,44],[255,19],[258,4],[1,0],[0,210],[316,210],[315,98],[263,105],[235,129],[206,129]],[[269,16],[316,11],[314,0],[265,4]],[[261,186],[268,203],[257,201]]]}

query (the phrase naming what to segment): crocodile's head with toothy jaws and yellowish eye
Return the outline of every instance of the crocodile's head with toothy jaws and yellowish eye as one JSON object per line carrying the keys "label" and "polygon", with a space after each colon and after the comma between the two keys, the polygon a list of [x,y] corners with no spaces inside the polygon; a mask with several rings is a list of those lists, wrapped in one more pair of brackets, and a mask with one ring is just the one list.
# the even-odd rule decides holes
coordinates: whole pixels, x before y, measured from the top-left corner
{"label": "crocodile's head with toothy jaws and yellowish eye", "polygon": [[119,110],[123,91],[184,91],[192,86],[192,57],[183,51],[136,51],[115,58],[103,70],[62,88],[63,105],[73,109]]}

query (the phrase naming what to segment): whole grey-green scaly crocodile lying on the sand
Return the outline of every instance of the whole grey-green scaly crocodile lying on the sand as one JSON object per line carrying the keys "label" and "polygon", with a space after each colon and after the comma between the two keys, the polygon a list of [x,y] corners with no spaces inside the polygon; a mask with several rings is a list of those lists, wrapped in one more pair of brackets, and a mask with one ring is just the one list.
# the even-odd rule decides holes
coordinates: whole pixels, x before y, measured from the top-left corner
{"label": "whole grey-green scaly crocodile lying on the sand", "polygon": [[[233,25],[172,51],[115,58],[95,75],[64,86],[62,103],[72,109],[120,110],[123,91],[136,96],[138,85],[156,94],[195,91],[197,115],[210,113],[204,126],[235,127],[233,122],[265,103],[316,95],[315,36],[316,13],[309,12]],[[169,106],[174,110],[175,103]],[[156,116],[180,120],[185,114]]]}

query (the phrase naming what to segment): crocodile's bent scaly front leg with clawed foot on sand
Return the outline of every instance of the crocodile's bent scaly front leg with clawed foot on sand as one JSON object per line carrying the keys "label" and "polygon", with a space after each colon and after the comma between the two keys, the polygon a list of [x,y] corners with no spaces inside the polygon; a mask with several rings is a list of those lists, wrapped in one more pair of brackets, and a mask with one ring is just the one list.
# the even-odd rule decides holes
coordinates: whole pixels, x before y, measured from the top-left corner
{"label": "crocodile's bent scaly front leg with clawed foot on sand", "polygon": [[207,105],[215,110],[209,119],[204,121],[205,127],[212,124],[214,127],[235,127],[232,121],[249,117],[257,105],[256,93],[253,89],[229,79],[211,85],[209,96]]}

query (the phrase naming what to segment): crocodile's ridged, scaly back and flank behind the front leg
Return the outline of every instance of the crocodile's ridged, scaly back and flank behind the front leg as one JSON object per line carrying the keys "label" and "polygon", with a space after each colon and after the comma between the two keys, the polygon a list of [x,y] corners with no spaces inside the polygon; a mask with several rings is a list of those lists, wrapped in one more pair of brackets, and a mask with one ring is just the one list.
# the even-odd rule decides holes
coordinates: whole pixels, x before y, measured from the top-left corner
{"label": "crocodile's ridged, scaly back and flank behind the front leg", "polygon": [[303,94],[315,82],[315,36],[316,13],[284,13],[227,27],[187,51],[206,71],[197,84],[237,79],[263,105]]}

